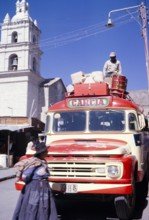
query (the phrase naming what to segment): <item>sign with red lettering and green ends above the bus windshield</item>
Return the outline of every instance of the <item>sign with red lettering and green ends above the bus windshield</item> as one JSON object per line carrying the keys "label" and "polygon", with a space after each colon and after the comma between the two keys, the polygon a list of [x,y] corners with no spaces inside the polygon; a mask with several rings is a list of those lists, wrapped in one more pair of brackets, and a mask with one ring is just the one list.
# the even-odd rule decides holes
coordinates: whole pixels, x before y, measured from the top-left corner
{"label": "sign with red lettering and green ends above the bus windshield", "polygon": [[69,99],[67,101],[69,108],[81,108],[81,107],[106,107],[109,105],[109,99],[107,98],[77,98]]}

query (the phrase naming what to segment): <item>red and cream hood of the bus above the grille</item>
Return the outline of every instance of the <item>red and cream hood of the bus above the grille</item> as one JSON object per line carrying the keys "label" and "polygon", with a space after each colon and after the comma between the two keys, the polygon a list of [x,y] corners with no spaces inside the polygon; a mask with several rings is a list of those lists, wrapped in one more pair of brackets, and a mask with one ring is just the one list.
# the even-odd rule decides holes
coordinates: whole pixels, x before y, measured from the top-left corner
{"label": "red and cream hood of the bus above the grille", "polygon": [[50,144],[49,154],[124,155],[130,154],[130,146],[125,141],[113,139],[62,140]]}

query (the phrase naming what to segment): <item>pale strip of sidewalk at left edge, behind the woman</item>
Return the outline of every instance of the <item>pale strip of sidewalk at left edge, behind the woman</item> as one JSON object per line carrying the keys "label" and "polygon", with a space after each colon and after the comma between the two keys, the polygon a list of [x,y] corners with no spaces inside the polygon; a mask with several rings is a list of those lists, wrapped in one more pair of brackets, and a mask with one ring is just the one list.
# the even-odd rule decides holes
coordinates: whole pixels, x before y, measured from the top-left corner
{"label": "pale strip of sidewalk at left edge, behind the woman", "polygon": [[0,182],[8,179],[15,178],[15,169],[12,168],[0,168]]}

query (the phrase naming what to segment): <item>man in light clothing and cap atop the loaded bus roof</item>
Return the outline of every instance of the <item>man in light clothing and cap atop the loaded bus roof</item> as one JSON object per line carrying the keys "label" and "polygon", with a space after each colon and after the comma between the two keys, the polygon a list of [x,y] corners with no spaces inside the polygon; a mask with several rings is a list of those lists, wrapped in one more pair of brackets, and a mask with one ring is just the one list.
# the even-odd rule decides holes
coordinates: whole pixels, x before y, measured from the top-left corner
{"label": "man in light clothing and cap atop the loaded bus roof", "polygon": [[107,60],[103,67],[104,77],[112,77],[113,75],[122,75],[121,62],[116,59],[116,53],[110,53],[110,59]]}

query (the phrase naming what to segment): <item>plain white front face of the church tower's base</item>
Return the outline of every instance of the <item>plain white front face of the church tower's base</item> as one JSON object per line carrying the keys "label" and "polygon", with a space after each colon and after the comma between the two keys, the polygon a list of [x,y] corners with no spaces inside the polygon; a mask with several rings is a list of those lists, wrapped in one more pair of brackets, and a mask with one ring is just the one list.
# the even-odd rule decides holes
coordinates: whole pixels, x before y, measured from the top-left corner
{"label": "plain white front face of the church tower's base", "polygon": [[0,80],[0,116],[27,115],[27,78],[4,78]]}

